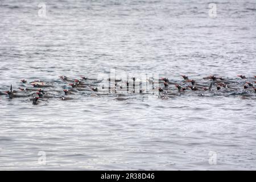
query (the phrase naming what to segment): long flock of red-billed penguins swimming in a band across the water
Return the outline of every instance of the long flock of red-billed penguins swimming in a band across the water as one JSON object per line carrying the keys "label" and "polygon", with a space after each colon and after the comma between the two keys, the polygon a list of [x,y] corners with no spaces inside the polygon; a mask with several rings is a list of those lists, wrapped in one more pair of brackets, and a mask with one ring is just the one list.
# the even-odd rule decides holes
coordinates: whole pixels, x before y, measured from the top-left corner
{"label": "long flock of red-billed penguins swimming in a band across the water", "polygon": [[[26,79],[21,80],[21,86],[14,90],[10,86],[8,91],[0,91],[0,96],[13,98],[28,98],[33,105],[38,105],[41,101],[47,101],[51,98],[60,100],[72,100],[76,95],[85,94],[90,97],[112,94],[117,100],[126,100],[127,94],[158,94],[162,100],[181,96],[188,93],[196,93],[199,96],[207,94],[220,94],[225,96],[239,95],[243,98],[256,100],[256,76],[246,77],[238,75],[238,78],[224,78],[216,75],[204,77],[201,80],[189,79],[186,75],[181,75],[183,81],[172,81],[168,78],[159,78],[158,84],[155,84],[153,77],[142,81],[139,78],[127,78],[127,80],[114,79],[110,81],[107,78],[105,81],[98,81],[95,78],[81,76],[80,80],[60,76],[61,89],[56,86],[55,82],[46,82],[35,80],[28,82]],[[68,86],[67,86],[68,85]],[[80,94],[80,95],[81,95]]]}

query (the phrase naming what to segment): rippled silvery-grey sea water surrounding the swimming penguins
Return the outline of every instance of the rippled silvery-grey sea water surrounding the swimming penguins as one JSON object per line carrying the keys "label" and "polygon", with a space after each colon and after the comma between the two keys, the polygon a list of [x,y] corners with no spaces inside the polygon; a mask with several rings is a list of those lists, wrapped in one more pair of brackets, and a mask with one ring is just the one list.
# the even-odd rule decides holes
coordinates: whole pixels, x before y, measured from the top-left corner
{"label": "rippled silvery-grey sea water surrounding the swimming penguins", "polygon": [[[111,68],[174,80],[256,75],[256,2],[0,1],[0,90]],[[0,96],[0,169],[256,169],[255,100]],[[46,164],[40,163],[42,153]],[[210,161],[209,161],[210,160]],[[211,162],[213,161],[213,163]]]}

